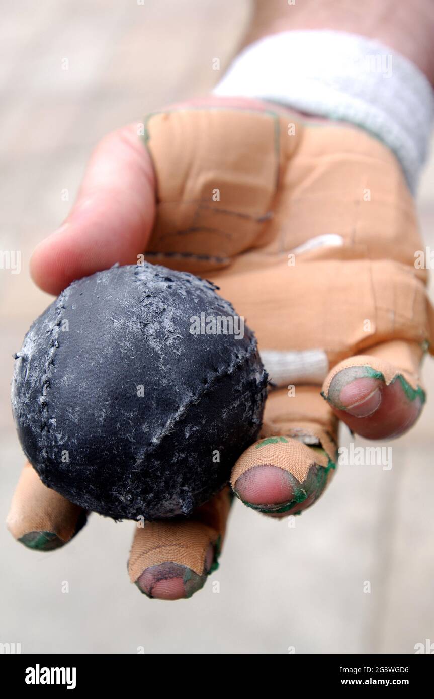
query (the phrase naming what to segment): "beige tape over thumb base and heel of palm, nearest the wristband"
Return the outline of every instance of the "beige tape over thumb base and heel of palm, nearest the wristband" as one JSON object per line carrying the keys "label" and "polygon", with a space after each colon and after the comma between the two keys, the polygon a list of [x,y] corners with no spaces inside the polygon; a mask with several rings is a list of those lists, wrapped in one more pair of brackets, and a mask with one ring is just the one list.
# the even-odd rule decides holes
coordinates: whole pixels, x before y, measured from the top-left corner
{"label": "beige tape over thumb base and heel of palm, nearest the wristband", "polygon": [[[423,249],[395,157],[360,129],[228,108],[159,113],[146,124],[159,210],[152,254],[228,259],[245,252],[253,261],[303,246],[313,259],[414,266],[414,252]],[[202,220],[208,214],[210,226]],[[310,250],[309,241],[327,239],[340,245]]]}

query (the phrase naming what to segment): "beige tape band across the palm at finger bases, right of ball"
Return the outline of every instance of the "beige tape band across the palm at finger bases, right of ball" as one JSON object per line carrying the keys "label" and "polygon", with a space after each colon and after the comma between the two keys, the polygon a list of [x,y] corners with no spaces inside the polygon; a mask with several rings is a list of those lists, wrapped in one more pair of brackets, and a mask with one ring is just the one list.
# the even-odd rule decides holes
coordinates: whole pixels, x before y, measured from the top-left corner
{"label": "beige tape band across the palm at finger bases, right of ball", "polygon": [[254,329],[260,350],[321,346],[333,367],[380,342],[423,345],[432,336],[424,284],[393,261],[310,261],[289,268],[277,260],[272,269],[233,269],[212,280]]}

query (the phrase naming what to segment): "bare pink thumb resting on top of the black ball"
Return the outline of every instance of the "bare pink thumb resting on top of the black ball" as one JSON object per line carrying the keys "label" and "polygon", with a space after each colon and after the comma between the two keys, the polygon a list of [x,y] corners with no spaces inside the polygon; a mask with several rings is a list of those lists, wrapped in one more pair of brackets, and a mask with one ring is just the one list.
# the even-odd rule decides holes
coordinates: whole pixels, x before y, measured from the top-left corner
{"label": "bare pink thumb resting on top of the black ball", "polygon": [[154,190],[152,161],[137,124],[103,138],[66,222],[34,251],[30,271],[36,284],[59,294],[73,280],[115,262],[136,262],[152,230]]}

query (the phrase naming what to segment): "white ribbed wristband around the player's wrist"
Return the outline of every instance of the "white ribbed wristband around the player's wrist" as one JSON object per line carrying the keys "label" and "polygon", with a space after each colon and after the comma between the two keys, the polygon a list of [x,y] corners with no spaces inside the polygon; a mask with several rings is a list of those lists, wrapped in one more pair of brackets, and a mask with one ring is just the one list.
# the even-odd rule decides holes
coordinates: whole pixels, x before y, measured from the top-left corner
{"label": "white ribbed wristband around the player's wrist", "polygon": [[214,94],[275,101],[356,124],[400,161],[414,191],[428,154],[434,92],[417,66],[342,31],[285,31],[248,46]]}

